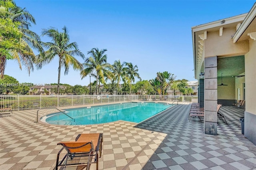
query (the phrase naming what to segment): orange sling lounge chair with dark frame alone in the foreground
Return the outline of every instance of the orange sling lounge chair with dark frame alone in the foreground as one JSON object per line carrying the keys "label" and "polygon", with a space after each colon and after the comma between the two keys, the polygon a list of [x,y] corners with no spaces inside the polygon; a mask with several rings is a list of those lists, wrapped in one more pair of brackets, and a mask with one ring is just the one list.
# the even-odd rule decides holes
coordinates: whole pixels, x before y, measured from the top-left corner
{"label": "orange sling lounge chair with dark frame alone in the foreground", "polygon": [[[88,169],[89,165],[92,163],[96,163],[96,169],[98,170],[98,158],[101,157],[102,142],[102,133],[78,134],[76,141],[59,142],[58,145],[62,145],[63,147],[57,154],[55,170],[58,170],[59,166],[64,166],[66,168],[66,166],[84,165],[87,165]],[[60,153],[64,148],[66,149],[67,153],[59,162]],[[88,157],[88,160],[86,160],[86,162],[80,162],[73,160],[75,157]]]}

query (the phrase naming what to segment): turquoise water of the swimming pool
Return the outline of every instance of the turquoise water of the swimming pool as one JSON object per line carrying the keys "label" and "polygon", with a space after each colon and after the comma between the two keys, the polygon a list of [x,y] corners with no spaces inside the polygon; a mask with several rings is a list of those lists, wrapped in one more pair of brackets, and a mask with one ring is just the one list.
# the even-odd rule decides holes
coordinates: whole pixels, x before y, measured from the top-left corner
{"label": "turquoise water of the swimming pool", "polygon": [[78,109],[66,109],[66,114],[46,116],[46,122],[55,125],[92,125],[114,121],[140,123],[173,105],[167,103],[119,103]]}

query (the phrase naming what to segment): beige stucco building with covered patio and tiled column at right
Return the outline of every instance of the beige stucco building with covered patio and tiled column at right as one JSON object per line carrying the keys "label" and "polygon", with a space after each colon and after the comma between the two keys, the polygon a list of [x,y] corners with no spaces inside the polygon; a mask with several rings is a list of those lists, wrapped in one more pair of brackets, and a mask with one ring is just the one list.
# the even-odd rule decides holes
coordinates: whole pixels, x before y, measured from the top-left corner
{"label": "beige stucco building with covered patio and tiled column at right", "polygon": [[217,134],[217,104],[245,100],[244,136],[256,144],[256,4],[246,14],[192,27],[192,41],[205,133]]}

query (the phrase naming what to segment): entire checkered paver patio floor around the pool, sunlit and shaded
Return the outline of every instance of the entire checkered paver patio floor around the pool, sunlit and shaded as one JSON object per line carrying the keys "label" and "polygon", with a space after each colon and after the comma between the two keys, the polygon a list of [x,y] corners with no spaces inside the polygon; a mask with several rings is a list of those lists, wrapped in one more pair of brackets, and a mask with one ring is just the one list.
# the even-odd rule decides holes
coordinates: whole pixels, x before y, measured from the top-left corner
{"label": "entire checkered paver patio floor around the pool, sunlit and shaded", "polygon": [[241,134],[242,109],[220,108],[228,125],[218,120],[217,136],[204,134],[198,118],[189,122],[189,109],[181,103],[140,124],[83,126],[36,124],[36,110],[14,111],[0,117],[0,169],[53,170],[58,142],[97,132],[104,139],[99,169],[256,170],[256,146]]}

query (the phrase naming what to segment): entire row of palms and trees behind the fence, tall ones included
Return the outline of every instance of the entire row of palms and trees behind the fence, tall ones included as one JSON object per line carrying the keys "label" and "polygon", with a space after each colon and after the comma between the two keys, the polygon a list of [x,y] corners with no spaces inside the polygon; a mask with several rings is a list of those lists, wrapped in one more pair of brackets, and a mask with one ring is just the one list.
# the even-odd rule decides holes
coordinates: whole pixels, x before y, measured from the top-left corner
{"label": "entire row of palms and trees behind the fence, tall ones included", "polygon": [[[95,83],[93,85],[95,85],[96,95],[100,93],[100,84],[104,85],[104,88],[109,93],[114,93],[115,91],[116,94],[124,92],[132,94],[137,90],[141,94],[157,93],[159,95],[165,95],[167,94],[168,88],[172,87],[174,91],[176,91],[176,88],[181,89],[182,83],[178,83],[176,85],[177,87],[174,86],[175,76],[167,71],[157,73],[155,79],[147,82],[142,81],[138,73],[138,66],[133,63],[117,60],[111,65],[107,62],[107,49],[99,50],[98,48],[92,48],[87,52],[90,57],[85,57],[84,53],[79,50],[78,44],[76,42],[70,42],[66,26],[62,28],[62,31],[54,27],[43,28],[41,36],[48,37],[50,42],[42,42],[40,36],[30,30],[32,24],[36,24],[35,18],[26,8],[16,6],[13,0],[0,0],[1,79],[4,79],[4,71],[8,59],[16,60],[20,69],[24,66],[28,74],[30,74],[31,71],[34,71],[34,66],[36,69],[42,69],[44,65],[49,64],[57,57],[57,94],[61,94],[62,92],[62,89],[60,89],[61,70],[64,69],[64,75],[67,75],[70,67],[80,71],[81,79],[87,76],[94,77]],[[38,52],[37,55],[33,49]],[[76,57],[84,59],[84,63],[80,63]],[[134,83],[136,78],[140,80],[140,83],[133,85],[132,83]],[[123,82],[121,87],[120,82]],[[146,84],[150,84],[151,86]],[[91,88],[93,85],[91,85]],[[181,92],[186,94],[188,90],[186,88],[184,90],[181,89]],[[87,91],[83,93],[87,93]]]}

